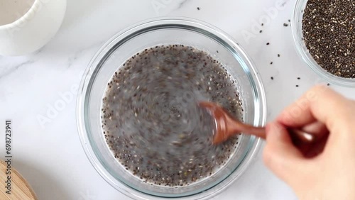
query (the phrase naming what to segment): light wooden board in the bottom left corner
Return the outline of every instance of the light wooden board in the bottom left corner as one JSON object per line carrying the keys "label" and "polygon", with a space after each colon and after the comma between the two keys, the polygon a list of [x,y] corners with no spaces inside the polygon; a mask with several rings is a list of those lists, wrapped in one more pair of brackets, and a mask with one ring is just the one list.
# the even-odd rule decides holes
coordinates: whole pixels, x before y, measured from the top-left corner
{"label": "light wooden board in the bottom left corner", "polygon": [[[8,165],[3,160],[0,160],[0,182],[1,184],[1,192],[0,192],[0,199],[1,200],[37,200],[37,196],[35,196],[35,192],[31,188],[31,186],[26,182],[26,179],[23,179],[20,173],[18,173],[12,166],[11,166],[11,175],[6,174],[6,169]],[[6,194],[6,189],[8,181],[8,176],[11,176],[11,194]]]}

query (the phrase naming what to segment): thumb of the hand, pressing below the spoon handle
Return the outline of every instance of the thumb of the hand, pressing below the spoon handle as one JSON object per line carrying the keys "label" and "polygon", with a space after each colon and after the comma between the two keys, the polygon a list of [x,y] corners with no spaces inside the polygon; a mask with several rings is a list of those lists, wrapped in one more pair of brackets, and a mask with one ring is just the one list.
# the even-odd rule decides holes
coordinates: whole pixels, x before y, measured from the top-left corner
{"label": "thumb of the hand, pressing below the spoon handle", "polygon": [[266,127],[266,147],[263,160],[280,179],[293,184],[304,173],[305,158],[295,148],[288,130],[280,123],[270,123]]}

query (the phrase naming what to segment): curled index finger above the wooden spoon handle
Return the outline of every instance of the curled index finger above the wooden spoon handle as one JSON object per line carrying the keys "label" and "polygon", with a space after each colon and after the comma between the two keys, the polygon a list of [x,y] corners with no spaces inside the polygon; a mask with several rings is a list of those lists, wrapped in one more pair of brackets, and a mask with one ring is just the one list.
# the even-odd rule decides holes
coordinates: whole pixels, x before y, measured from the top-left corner
{"label": "curled index finger above the wooden spoon handle", "polygon": [[315,121],[334,128],[334,121],[349,121],[349,99],[325,86],[307,91],[278,117],[278,122],[289,127],[302,127]]}

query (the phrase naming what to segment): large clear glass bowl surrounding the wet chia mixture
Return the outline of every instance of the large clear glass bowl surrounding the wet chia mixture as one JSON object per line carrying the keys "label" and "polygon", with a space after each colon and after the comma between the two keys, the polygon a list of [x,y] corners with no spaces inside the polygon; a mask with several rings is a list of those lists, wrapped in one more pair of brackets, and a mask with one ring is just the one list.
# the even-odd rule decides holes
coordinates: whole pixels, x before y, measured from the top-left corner
{"label": "large clear glass bowl surrounding the wet chia mixture", "polygon": [[104,139],[100,119],[107,82],[137,52],[173,44],[204,50],[222,62],[239,83],[244,121],[254,126],[263,126],[266,121],[261,78],[244,50],[222,30],[189,18],[159,18],[115,35],[97,52],[84,72],[77,99],[77,123],[82,146],[94,168],[114,188],[133,199],[209,199],[241,176],[261,145],[260,139],[241,135],[235,152],[222,169],[212,177],[178,188],[146,184],[114,158]]}

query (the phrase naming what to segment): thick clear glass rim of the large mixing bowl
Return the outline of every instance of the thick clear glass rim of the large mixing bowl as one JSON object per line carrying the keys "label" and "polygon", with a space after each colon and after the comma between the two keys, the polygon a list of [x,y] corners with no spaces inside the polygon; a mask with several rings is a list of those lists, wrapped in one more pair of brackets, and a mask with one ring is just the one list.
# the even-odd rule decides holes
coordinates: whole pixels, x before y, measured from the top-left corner
{"label": "thick clear glass rim of the large mixing bowl", "polygon": [[[190,23],[199,23],[203,26],[207,26],[209,28],[214,28],[214,30],[219,31],[220,33],[223,33],[223,35],[226,37],[226,40],[231,40],[236,47],[238,47],[239,50],[241,50],[241,53],[243,54],[243,56],[246,57],[246,61],[249,62],[249,64],[252,66],[251,67],[251,71],[253,73],[253,77],[255,77],[256,79],[254,80],[257,83],[257,87],[256,87],[256,92],[257,92],[257,98],[259,101],[259,106],[258,109],[260,110],[260,115],[258,116],[258,123],[263,126],[266,123],[266,96],[265,96],[265,91],[263,89],[263,84],[261,81],[261,77],[260,75],[256,72],[256,67],[253,64],[251,58],[246,55],[246,51],[241,48],[240,45],[238,45],[237,43],[234,42],[233,39],[231,39],[231,37],[229,35],[227,35],[224,31],[220,30],[219,28],[216,28],[215,26],[210,25],[209,23],[205,23],[204,21],[199,21],[199,20],[195,20],[194,18],[182,18],[182,17],[174,17],[174,16],[169,16],[169,17],[160,17],[160,18],[151,18],[149,20],[146,21],[142,21],[140,23],[136,23],[133,26],[130,26],[129,28],[126,28],[124,30],[122,30],[121,32],[117,33],[116,35],[114,35],[110,40],[108,40],[107,43],[105,43],[104,45],[102,45],[102,48],[100,48],[100,50],[97,52],[96,55],[94,55],[94,57],[92,58],[92,60],[89,62],[89,65],[87,67],[87,70],[85,70],[84,74],[83,74],[83,79],[82,82],[80,84],[80,94],[78,94],[77,97],[77,128],[78,128],[78,132],[80,135],[80,140],[82,143],[82,148],[84,148],[84,152],[86,153],[89,161],[91,162],[92,166],[94,167],[94,169],[102,176],[102,178],[107,181],[109,184],[111,184],[112,187],[114,187],[115,189],[119,190],[122,194],[125,194],[126,196],[130,196],[130,197],[135,197],[135,198],[148,198],[149,196],[153,197],[151,194],[145,194],[141,191],[137,191],[135,189],[131,189],[130,187],[124,187],[124,184],[122,184],[121,182],[111,182],[111,174],[104,172],[104,170],[102,169],[102,167],[100,167],[100,162],[98,160],[98,158],[95,156],[94,152],[92,152],[92,146],[89,144],[88,142],[88,138],[87,138],[87,128],[85,127],[85,120],[84,120],[84,115],[83,115],[83,111],[84,111],[84,99],[86,99],[86,91],[87,91],[87,82],[88,79],[91,79],[92,77],[92,73],[93,73],[93,66],[96,62],[96,60],[100,57],[100,55],[102,55],[103,51],[105,49],[108,48],[109,45],[111,45],[111,43],[114,43],[115,40],[118,40],[118,38],[121,38],[122,35],[124,35],[125,33],[129,33],[130,30],[132,30],[133,28],[138,28],[139,26],[148,24],[148,23],[156,23],[158,21],[187,21]],[[227,177],[226,179],[224,179],[224,181],[222,181],[220,184],[222,184],[222,186],[224,186],[224,188],[228,187],[231,183],[234,182],[235,179],[237,179],[239,176],[241,176],[241,174],[244,173],[244,171],[246,170],[247,166],[249,166],[249,164],[251,164],[251,162],[253,162],[253,157],[256,157],[258,150],[260,149],[262,144],[261,139],[259,138],[253,138],[253,145],[251,145],[249,152],[247,153],[247,155],[244,157],[244,162],[241,162],[240,164],[240,168],[239,168],[239,173],[235,174],[236,172],[233,172],[231,174],[235,174],[234,176],[230,176]],[[210,191],[208,192],[209,194],[204,194],[202,196],[199,196],[200,194],[194,194],[193,196],[185,196],[185,197],[181,197],[181,198],[194,198],[194,197],[198,197],[199,199],[208,199],[211,198],[212,196],[215,196],[217,194],[219,194],[220,192],[222,192],[224,189],[216,189],[216,188],[212,188],[209,189]],[[148,196],[146,196],[148,195]],[[197,195],[197,196],[195,196]],[[158,196],[154,196],[154,198],[160,199],[160,197]]]}

